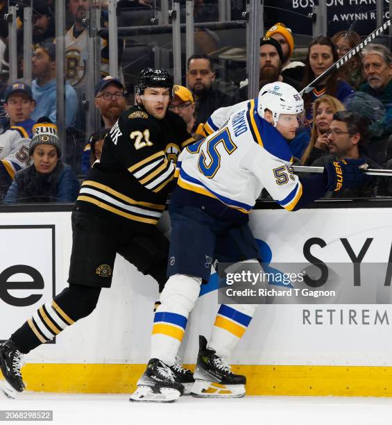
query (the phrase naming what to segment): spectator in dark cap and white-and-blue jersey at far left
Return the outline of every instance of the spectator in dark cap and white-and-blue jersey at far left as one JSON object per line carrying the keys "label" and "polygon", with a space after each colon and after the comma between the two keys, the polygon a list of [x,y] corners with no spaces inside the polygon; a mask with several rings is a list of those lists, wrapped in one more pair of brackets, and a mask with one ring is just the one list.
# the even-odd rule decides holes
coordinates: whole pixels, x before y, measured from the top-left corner
{"label": "spectator in dark cap and white-and-blue jersey at far left", "polygon": [[0,135],[0,198],[6,194],[15,173],[30,165],[28,145],[35,121],[30,118],[35,107],[29,85],[19,81],[8,86],[4,108],[9,117],[8,130]]}

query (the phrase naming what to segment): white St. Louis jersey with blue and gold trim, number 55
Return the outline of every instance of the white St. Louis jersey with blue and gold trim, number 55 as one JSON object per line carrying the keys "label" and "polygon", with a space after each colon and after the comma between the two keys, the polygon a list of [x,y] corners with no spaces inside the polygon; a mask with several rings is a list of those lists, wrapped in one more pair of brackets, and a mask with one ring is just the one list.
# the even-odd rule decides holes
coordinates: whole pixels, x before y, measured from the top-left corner
{"label": "white St. Louis jersey with blue and gold trim, number 55", "polygon": [[187,192],[203,194],[246,214],[265,188],[292,210],[302,194],[292,160],[287,141],[259,117],[255,101],[247,101],[218,131],[180,153],[177,175],[182,190],[176,199],[187,197]]}

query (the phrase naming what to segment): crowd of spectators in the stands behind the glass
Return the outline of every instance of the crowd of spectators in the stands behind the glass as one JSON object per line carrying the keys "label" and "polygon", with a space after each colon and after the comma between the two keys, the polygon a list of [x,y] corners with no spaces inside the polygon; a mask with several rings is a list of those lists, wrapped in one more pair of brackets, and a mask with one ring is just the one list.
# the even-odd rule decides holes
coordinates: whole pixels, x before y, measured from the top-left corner
{"label": "crowd of spectators in the stands behind the glass", "polygon": [[[101,80],[94,92],[99,124],[94,133],[87,134],[83,108],[88,72],[86,18],[90,5],[88,0],[67,0],[67,156],[63,154],[62,160],[69,162],[71,167],[62,163],[62,143],[56,133],[54,1],[31,2],[28,4],[25,0],[27,6],[33,7],[33,81],[31,86],[21,81],[23,55],[19,46],[23,45],[24,28],[19,18],[16,23],[19,78],[8,78],[0,85],[0,200],[3,198],[4,203],[73,201],[76,176],[80,182],[88,168],[99,160],[105,135],[123,110],[133,104],[133,85],[127,77],[129,69],[123,72],[120,66],[118,78],[108,75],[108,40],[100,38]],[[0,0],[0,10],[2,3]],[[105,16],[105,1],[101,4]],[[203,4],[203,1],[195,3],[195,22],[207,19],[206,9],[201,7]],[[152,2],[121,0],[117,5],[148,10]],[[216,48],[216,37],[213,31],[205,31],[203,35],[199,32],[195,33],[198,53],[187,59],[182,85],[174,86],[169,106],[184,119],[189,133],[196,139],[205,136],[203,125],[215,110],[249,99],[247,79],[237,84],[223,81],[227,85],[221,85],[221,69],[217,69],[219,56],[210,51]],[[0,71],[8,60],[6,33],[0,24]],[[260,39],[259,89],[267,83],[283,81],[300,91],[360,41],[355,31],[339,31],[332,38],[320,35],[307,43],[306,53],[298,60],[296,36],[284,23],[276,23]],[[200,42],[204,43],[203,49],[199,48]],[[125,40],[119,38],[119,65],[125,46]],[[133,70],[133,74],[138,71]],[[228,85],[230,90],[223,90]],[[287,140],[296,165],[322,166],[336,158],[363,157],[371,168],[392,169],[392,53],[389,47],[378,42],[368,44],[360,54],[303,94],[303,99],[304,119],[298,123],[296,137]],[[33,133],[35,126],[40,134]],[[49,137],[42,133],[42,128],[55,130]],[[38,137],[40,140],[49,138],[50,142],[37,143]],[[41,190],[37,190],[38,184],[42,184]],[[64,185],[70,185],[68,191],[64,190]],[[33,194],[33,189],[37,193]],[[29,192],[31,190],[33,192]],[[343,195],[392,196],[392,178],[375,179],[371,187]]]}

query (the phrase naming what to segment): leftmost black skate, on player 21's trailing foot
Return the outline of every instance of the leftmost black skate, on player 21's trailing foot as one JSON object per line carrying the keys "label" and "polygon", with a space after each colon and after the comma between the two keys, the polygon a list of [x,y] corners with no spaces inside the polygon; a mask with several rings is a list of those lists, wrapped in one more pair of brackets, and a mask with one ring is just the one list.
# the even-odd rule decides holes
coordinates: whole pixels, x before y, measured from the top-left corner
{"label": "leftmost black skate, on player 21's trailing foot", "polygon": [[20,368],[23,366],[23,354],[17,349],[12,340],[0,345],[0,369],[6,381],[1,381],[1,390],[11,399],[17,392],[24,390]]}

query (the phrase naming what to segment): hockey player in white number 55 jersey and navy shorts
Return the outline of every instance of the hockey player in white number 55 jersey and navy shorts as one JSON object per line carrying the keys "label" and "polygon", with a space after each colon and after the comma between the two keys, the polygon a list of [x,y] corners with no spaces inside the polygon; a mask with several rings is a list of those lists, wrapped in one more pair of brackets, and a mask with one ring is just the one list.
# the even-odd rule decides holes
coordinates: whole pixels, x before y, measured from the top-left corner
{"label": "hockey player in white number 55 jersey and navy shorts", "polygon": [[[162,292],[151,336],[151,358],[168,367],[185,333],[200,287],[210,278],[212,259],[259,265],[257,243],[248,214],[262,188],[286,210],[298,210],[327,190],[363,183],[362,160],[331,164],[324,174],[298,178],[284,134],[295,132],[302,113],[300,94],[284,83],[264,86],[257,105],[251,100],[232,114],[219,131],[189,145],[178,159],[178,184],[169,213],[169,280]],[[265,114],[272,117],[269,124]],[[196,397],[242,397],[245,376],[233,374],[230,357],[255,313],[255,305],[222,305],[212,336],[200,337],[192,394]],[[133,401],[176,401],[180,392],[161,391],[140,378]]]}

